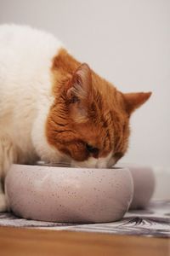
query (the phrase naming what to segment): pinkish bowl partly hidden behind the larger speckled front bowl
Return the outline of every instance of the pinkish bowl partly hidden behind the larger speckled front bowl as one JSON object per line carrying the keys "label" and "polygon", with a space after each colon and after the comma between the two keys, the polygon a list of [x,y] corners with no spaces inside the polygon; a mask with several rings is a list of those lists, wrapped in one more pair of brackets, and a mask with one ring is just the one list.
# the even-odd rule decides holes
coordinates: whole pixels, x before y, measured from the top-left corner
{"label": "pinkish bowl partly hidden behind the larger speckled front bowl", "polygon": [[142,209],[148,206],[156,186],[154,171],[150,166],[120,164],[127,167],[133,177],[134,193],[130,209]]}

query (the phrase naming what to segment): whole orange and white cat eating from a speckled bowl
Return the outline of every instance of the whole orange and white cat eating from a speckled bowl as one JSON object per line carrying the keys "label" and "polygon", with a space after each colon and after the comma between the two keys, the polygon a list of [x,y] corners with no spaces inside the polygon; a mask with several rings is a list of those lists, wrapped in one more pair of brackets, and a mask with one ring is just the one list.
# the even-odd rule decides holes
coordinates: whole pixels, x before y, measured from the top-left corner
{"label": "whole orange and white cat eating from a speckled bowl", "polygon": [[127,151],[131,114],[150,94],[117,90],[47,32],[0,26],[0,211],[12,163],[113,166]]}

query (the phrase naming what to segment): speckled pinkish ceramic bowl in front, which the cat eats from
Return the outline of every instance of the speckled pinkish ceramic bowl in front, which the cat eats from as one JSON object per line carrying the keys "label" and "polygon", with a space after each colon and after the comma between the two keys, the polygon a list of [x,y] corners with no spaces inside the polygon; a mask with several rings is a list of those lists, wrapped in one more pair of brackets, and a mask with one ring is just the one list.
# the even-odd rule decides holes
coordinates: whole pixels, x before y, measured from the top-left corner
{"label": "speckled pinkish ceramic bowl in front, which the cat eats from", "polygon": [[133,180],[127,168],[13,165],[5,187],[16,215],[44,221],[116,221],[133,198]]}

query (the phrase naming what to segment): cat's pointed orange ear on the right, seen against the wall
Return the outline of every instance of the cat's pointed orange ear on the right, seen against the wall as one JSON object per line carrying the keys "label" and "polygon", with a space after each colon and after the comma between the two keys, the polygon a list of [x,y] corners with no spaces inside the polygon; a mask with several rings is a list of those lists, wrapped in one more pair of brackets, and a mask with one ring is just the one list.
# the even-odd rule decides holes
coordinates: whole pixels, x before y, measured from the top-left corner
{"label": "cat's pointed orange ear on the right, seen against the wall", "polygon": [[151,92],[124,93],[125,108],[130,115],[136,108],[144,104],[151,96]]}

